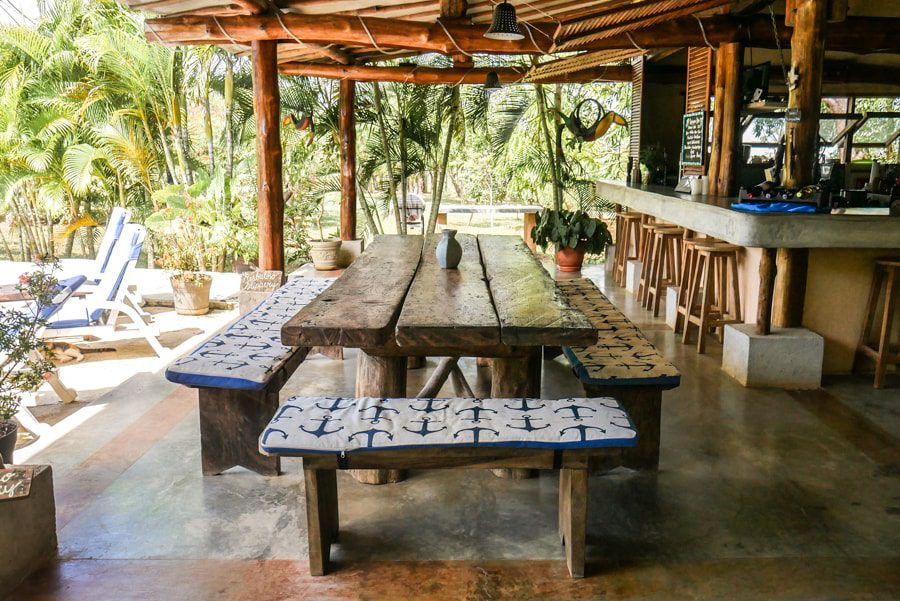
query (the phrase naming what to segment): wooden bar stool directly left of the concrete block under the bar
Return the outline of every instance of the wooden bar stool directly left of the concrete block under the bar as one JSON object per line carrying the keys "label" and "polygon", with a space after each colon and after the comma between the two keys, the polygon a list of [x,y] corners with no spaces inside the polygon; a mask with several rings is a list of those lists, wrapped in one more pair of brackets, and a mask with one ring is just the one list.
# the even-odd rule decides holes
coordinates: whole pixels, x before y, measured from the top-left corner
{"label": "wooden bar stool directly left of the concrete block under the bar", "polygon": [[694,266],[688,282],[682,342],[689,342],[691,326],[696,325],[698,353],[706,350],[706,335],[711,330],[717,330],[721,340],[726,324],[743,323],[737,270],[739,248],[724,242],[694,242]]}

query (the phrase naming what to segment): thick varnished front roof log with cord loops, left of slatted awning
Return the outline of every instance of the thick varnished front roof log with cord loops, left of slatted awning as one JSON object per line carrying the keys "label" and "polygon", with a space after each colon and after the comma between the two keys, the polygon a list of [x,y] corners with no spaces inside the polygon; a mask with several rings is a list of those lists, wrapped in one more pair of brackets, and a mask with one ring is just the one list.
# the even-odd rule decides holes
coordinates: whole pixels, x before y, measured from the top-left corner
{"label": "thick varnished front roof log with cord loops, left of slatted awning", "polygon": [[458,22],[444,24],[450,33],[448,37],[437,23],[374,17],[363,20],[341,15],[285,14],[282,18],[290,32],[285,31],[281,22],[271,15],[221,17],[218,20],[182,16],[148,20],[146,35],[151,41],[179,45],[228,44],[232,40],[242,44],[260,40],[291,42],[296,41],[296,36],[304,43],[377,45],[447,55],[458,54],[457,46],[469,53],[538,54],[550,49],[555,28],[555,24],[538,25],[546,35],[536,35],[532,42],[528,37],[517,41],[491,40],[484,37],[486,26]]}

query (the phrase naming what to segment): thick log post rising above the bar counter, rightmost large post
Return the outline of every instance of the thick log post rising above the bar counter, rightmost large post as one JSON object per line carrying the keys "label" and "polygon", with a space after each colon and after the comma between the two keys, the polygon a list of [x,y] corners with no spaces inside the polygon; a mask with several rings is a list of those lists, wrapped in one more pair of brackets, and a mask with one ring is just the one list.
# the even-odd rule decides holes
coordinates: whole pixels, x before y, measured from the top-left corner
{"label": "thick log post rising above the bar counter, rightmost large post", "polygon": [[813,183],[819,142],[822,69],[825,60],[827,0],[794,1],[791,70],[788,73],[788,110],[800,120],[785,124],[784,185],[797,188]]}

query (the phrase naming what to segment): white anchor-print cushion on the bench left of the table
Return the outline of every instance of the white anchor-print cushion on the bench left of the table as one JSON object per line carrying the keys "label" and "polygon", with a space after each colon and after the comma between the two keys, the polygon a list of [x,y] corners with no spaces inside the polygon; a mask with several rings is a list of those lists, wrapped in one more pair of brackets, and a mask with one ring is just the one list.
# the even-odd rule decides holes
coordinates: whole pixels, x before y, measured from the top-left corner
{"label": "white anchor-print cushion on the bench left of the table", "polygon": [[289,279],[230,328],[170,365],[166,379],[202,388],[262,390],[296,351],[281,344],[281,326],[332,281]]}

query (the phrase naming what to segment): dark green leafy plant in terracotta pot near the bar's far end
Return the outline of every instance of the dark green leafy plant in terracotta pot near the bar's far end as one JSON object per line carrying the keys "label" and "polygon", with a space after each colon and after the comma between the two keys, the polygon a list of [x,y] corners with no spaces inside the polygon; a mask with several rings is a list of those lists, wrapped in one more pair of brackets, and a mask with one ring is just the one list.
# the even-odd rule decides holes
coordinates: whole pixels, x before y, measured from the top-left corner
{"label": "dark green leafy plant in terracotta pot near the bar's far end", "polygon": [[585,211],[546,209],[531,230],[531,239],[545,251],[556,246],[560,271],[580,271],[584,255],[600,254],[612,243],[606,224]]}

